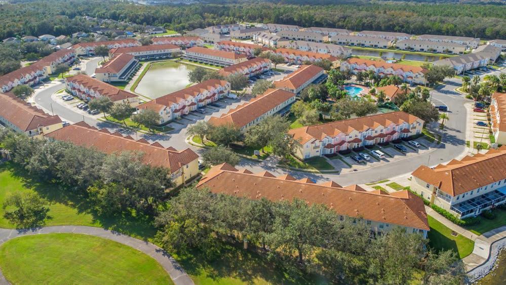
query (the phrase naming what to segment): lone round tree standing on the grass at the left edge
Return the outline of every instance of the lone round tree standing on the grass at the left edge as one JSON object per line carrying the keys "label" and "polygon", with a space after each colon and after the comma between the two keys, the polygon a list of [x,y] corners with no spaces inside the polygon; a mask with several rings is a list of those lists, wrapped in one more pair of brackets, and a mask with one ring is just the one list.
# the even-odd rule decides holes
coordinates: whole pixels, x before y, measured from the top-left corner
{"label": "lone round tree standing on the grass at the left edge", "polygon": [[40,226],[48,218],[48,205],[37,193],[13,192],[4,202],[4,217],[19,228]]}

